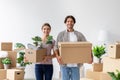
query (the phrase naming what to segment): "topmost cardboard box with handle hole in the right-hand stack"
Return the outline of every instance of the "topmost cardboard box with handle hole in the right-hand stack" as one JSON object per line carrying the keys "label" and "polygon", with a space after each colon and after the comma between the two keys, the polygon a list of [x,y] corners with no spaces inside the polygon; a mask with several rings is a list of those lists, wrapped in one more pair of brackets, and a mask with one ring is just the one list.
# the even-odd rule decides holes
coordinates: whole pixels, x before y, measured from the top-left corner
{"label": "topmost cardboard box with handle hole in the right-hand stack", "polygon": [[120,58],[120,44],[109,45],[108,56],[111,58]]}

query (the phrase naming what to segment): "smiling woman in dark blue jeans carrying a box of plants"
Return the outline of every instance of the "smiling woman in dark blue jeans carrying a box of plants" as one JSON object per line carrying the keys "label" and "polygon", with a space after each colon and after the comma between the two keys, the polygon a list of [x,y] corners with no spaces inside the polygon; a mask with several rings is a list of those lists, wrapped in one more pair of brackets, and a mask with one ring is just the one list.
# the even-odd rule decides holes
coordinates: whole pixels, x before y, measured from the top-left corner
{"label": "smiling woman in dark blue jeans carrying a box of plants", "polygon": [[41,36],[42,46],[40,45],[40,47],[46,48],[47,52],[46,52],[46,56],[44,56],[43,61],[37,62],[35,64],[35,76],[36,76],[36,80],[52,80],[52,75],[53,75],[52,58],[55,57],[55,54],[53,51],[53,55],[52,55],[51,50],[53,49],[55,40],[52,38],[52,36],[50,36],[51,26],[49,23],[44,23],[41,30],[43,32],[43,35]]}

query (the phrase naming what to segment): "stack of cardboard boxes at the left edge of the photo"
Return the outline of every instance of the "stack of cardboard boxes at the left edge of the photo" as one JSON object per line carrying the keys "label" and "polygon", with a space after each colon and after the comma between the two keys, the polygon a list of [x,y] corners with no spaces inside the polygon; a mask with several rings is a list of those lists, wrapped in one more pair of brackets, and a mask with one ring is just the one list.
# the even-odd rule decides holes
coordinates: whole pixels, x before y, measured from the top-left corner
{"label": "stack of cardboard boxes at the left edge of the photo", "polygon": [[16,68],[17,52],[12,50],[12,42],[1,42],[1,51],[6,51],[12,64],[10,69],[4,69],[0,61],[0,80],[24,80],[24,71]]}

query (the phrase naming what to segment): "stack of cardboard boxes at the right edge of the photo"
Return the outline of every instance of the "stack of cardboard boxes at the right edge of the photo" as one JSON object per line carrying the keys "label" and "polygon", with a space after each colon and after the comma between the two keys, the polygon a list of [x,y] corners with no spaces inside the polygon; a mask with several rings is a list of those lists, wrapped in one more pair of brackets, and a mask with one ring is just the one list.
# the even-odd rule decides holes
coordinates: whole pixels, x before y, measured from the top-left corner
{"label": "stack of cardboard boxes at the right edge of the photo", "polygon": [[120,44],[108,46],[108,56],[103,57],[103,71],[87,70],[86,77],[94,80],[112,80],[107,72],[120,70]]}

